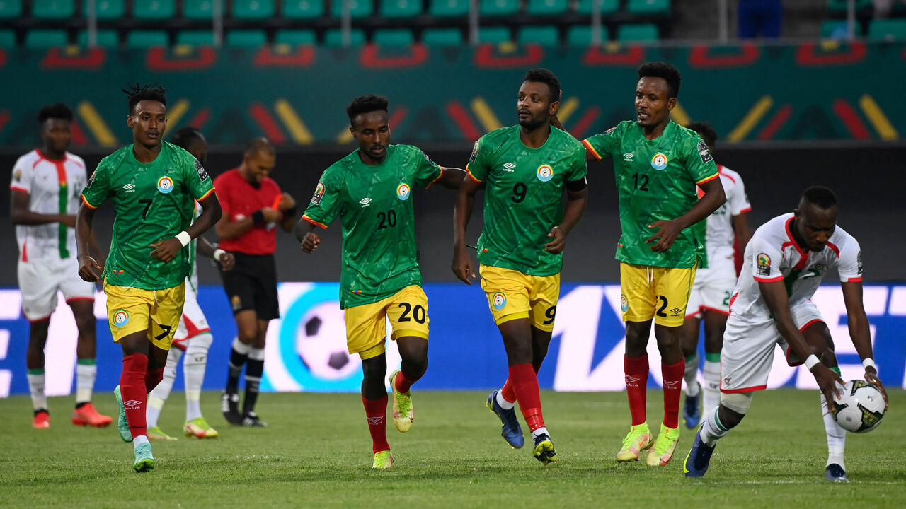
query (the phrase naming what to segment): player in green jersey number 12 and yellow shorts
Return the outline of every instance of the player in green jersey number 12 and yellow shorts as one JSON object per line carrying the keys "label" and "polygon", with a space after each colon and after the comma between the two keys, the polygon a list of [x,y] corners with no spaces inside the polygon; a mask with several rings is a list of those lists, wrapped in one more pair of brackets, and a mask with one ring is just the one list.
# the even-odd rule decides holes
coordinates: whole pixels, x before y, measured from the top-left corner
{"label": "player in green jersey number 12 and yellow shorts", "polygon": [[[679,82],[679,71],[669,63],[642,64],[635,89],[636,120],[624,120],[583,141],[589,159],[613,158],[620,194],[622,235],[616,258],[632,427],[616,459],[638,460],[641,451],[653,446],[646,458],[649,466],[667,465],[679,441],[679,396],[686,369],[681,329],[699,257],[704,256],[703,219],[725,200],[708,146],[695,131],[670,120]],[[704,191],[701,199],[697,185]],[[657,443],[645,419],[652,319],[664,386]]]}

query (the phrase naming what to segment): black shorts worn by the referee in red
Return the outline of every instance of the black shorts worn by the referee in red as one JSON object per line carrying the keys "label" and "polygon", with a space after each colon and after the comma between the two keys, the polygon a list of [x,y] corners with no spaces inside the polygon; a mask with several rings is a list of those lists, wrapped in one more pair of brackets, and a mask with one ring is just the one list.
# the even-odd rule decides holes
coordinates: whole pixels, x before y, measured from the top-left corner
{"label": "black shorts worn by the referee in red", "polygon": [[233,314],[253,310],[258,320],[280,318],[274,255],[233,252],[233,256],[236,257],[233,269],[220,269],[220,277],[224,281],[226,297],[233,306]]}

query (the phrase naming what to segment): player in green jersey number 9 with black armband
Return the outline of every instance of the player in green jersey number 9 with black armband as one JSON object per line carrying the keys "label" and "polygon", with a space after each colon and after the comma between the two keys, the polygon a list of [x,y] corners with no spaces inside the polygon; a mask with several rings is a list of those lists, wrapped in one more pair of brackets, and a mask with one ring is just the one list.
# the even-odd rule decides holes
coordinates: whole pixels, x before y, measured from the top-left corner
{"label": "player in green jersey number 9 with black armband", "polygon": [[554,73],[526,72],[516,96],[519,123],[477,140],[453,219],[451,268],[471,284],[466,227],[475,195],[485,189],[485,226],[477,245],[481,287],[509,364],[509,377],[487,397],[487,408],[500,418],[506,442],[519,448],[524,438],[514,410],[518,401],[535,442],[533,454],[544,465],[556,461],[556,453],[541,411],[537,372],[554,331],[566,235],[588,197],[582,144],[551,126],[559,107]]}

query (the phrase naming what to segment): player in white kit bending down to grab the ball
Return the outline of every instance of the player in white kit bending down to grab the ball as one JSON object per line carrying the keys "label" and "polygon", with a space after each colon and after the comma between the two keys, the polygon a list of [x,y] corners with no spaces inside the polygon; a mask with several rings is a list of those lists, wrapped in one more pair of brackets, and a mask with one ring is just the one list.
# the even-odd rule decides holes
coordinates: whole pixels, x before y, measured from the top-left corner
{"label": "player in white kit bending down to grab the ball", "polygon": [[862,300],[862,253],[853,236],[836,226],[836,218],[834,191],[809,187],[795,214],[775,217],[752,235],[730,298],[721,351],[720,404],[706,412],[699,427],[686,456],[687,476],[705,475],[718,439],[746,416],[753,393],[766,389],[775,345],[780,345],[787,363],[805,363],[821,389],[828,449],[824,475],[832,481],[847,481],[845,432],[827,405],[839,394],[843,380],[830,331],[810,301],[828,271],[840,274],[850,337],[863,360],[865,379],[882,390],[885,401],[887,394],[872,360],[871,330]]}

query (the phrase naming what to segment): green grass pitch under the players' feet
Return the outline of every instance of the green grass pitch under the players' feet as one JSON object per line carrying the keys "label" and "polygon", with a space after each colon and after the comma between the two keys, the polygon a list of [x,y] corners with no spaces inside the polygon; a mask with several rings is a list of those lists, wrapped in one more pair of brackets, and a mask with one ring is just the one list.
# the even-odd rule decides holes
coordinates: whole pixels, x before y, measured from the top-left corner
{"label": "green grass pitch under the players' feet", "polygon": [[[722,440],[708,475],[687,479],[693,432],[682,428],[669,466],[618,465],[629,428],[624,393],[545,392],[545,420],[559,464],[541,466],[531,438],[506,445],[485,392],[413,391],[415,424],[388,427],[396,465],[371,470],[371,440],[356,394],[263,394],[267,428],[230,427],[217,394],[202,396],[220,437],[183,437],[184,399],[174,394],[152,442],[153,472],[132,471],[131,444],[116,427],[73,427],[71,398],[50,401],[52,426],[31,427],[27,397],[0,399],[0,506],[4,507],[902,507],[906,504],[906,393],[892,390],[880,428],[849,435],[852,482],[824,480],[826,445],[814,390],[759,393],[749,418]],[[652,429],[660,391],[648,396]],[[95,405],[115,417],[112,394]],[[520,418],[521,419],[521,418]]]}

